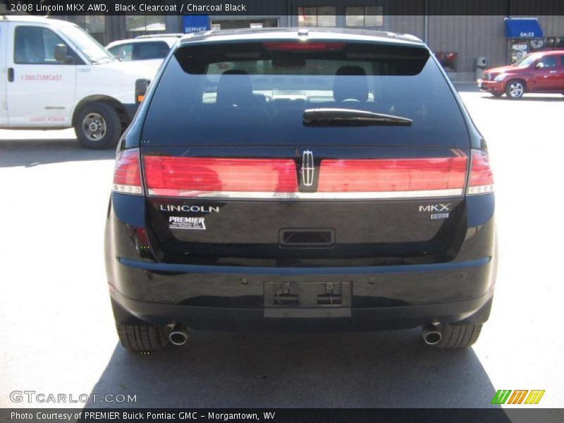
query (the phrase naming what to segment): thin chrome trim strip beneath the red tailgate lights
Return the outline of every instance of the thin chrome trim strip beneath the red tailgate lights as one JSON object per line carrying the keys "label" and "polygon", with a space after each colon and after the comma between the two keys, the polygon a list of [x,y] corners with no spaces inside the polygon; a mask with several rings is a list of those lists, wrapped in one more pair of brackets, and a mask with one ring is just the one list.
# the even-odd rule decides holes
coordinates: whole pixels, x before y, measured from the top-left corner
{"label": "thin chrome trim strip beneath the red tailgate lights", "polygon": [[152,197],[214,198],[214,199],[266,199],[266,200],[372,200],[425,197],[461,197],[462,188],[450,190],[386,191],[386,192],[246,192],[246,191],[183,191],[157,194],[152,188],[147,195]]}

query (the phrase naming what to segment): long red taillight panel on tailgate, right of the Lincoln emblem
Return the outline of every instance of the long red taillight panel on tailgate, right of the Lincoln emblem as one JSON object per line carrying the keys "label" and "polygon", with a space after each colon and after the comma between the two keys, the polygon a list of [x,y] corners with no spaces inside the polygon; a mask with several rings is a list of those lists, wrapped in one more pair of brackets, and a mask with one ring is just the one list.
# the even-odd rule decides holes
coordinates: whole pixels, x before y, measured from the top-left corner
{"label": "long red taillight panel on tailgate, right of the Lincoln emblem", "polygon": [[[461,195],[467,157],[323,160],[319,192],[411,192],[449,190]],[[429,192],[429,194],[431,194]]]}

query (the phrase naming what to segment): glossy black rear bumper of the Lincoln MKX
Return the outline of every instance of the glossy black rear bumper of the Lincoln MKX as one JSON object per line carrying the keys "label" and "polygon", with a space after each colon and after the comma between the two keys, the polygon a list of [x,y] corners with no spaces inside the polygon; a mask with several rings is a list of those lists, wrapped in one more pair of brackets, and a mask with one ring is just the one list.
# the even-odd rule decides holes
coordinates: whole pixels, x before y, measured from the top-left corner
{"label": "glossy black rear bumper of the Lincoln MKX", "polygon": [[[482,323],[489,316],[495,263],[361,268],[252,268],[117,259],[117,307],[150,324],[210,330],[348,331],[404,329],[431,321]],[[349,307],[271,307],[267,283],[350,283]],[[298,311],[296,311],[298,309]],[[120,312],[116,313],[120,320]],[[122,321],[127,323],[126,321]]]}

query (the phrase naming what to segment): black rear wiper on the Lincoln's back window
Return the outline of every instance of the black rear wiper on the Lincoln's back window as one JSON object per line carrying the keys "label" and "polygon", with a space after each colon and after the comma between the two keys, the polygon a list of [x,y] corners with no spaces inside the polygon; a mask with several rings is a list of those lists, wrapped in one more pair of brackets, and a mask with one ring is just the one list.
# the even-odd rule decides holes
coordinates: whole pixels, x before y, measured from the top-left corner
{"label": "black rear wiper on the Lincoln's back window", "polygon": [[305,109],[302,121],[306,126],[410,126],[413,123],[401,116],[355,109]]}

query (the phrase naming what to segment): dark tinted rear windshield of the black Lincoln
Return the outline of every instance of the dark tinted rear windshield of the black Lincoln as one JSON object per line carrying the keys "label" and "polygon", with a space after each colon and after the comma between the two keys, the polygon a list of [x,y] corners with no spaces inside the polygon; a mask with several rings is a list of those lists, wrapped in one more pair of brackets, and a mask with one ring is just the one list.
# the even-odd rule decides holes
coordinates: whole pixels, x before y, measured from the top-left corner
{"label": "dark tinted rear windshield of the black Lincoln", "polygon": [[[354,109],[411,125],[305,125],[307,109]],[[339,42],[177,49],[145,119],[145,145],[467,147],[453,92],[427,49]]]}

